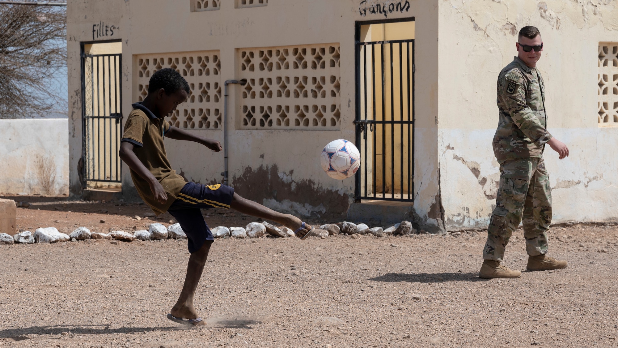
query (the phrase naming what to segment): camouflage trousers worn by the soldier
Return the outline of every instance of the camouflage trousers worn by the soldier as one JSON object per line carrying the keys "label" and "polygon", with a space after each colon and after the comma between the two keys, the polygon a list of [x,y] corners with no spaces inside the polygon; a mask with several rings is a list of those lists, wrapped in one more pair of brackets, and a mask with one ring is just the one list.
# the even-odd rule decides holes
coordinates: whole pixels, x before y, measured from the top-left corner
{"label": "camouflage trousers worn by the soldier", "polygon": [[510,236],[522,218],[528,255],[547,253],[551,188],[542,158],[509,159],[500,164],[500,186],[487,229],[484,259],[502,261]]}

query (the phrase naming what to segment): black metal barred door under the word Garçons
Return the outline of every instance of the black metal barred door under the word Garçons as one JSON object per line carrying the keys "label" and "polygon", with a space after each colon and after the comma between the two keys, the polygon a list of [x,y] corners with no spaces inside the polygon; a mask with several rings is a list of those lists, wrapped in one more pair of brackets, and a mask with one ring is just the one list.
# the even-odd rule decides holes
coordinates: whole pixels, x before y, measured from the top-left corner
{"label": "black metal barred door under the word Gar\u00e7ons", "polygon": [[414,40],[356,41],[357,200],[413,201]]}

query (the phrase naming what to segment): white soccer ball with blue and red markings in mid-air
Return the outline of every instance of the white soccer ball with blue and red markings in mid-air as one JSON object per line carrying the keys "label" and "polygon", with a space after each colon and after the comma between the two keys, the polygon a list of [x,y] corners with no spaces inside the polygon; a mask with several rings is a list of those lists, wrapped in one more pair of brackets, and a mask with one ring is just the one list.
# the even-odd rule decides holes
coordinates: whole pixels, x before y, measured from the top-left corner
{"label": "white soccer ball with blue and red markings in mid-air", "polygon": [[360,152],[351,142],[337,139],[324,146],[320,163],[328,176],[343,180],[354,175],[360,167]]}

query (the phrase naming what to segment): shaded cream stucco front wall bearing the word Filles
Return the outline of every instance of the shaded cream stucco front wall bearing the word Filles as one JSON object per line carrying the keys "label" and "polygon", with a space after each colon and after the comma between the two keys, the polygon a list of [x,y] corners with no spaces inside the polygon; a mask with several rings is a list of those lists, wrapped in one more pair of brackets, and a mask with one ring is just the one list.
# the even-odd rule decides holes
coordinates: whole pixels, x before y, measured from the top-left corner
{"label": "shaded cream stucco front wall bearing the word Filles", "polygon": [[[71,188],[81,191],[78,176],[81,155],[81,100],[79,42],[90,41],[93,24],[103,20],[119,27],[122,38],[122,110],[130,112],[137,95],[133,91],[137,66],[136,54],[198,50],[220,50],[221,79],[238,78],[236,50],[248,47],[307,45],[337,42],[341,45],[341,129],[336,131],[242,130],[235,129],[237,95],[229,91],[229,176],[252,179],[259,168],[277,168],[279,175],[290,176],[294,183],[311,183],[295,197],[281,190],[262,201],[276,209],[327,214],[315,196],[331,192],[345,195],[347,205],[354,198],[354,180],[332,180],[320,167],[320,152],[334,139],[355,139],[355,22],[415,17],[417,92],[415,113],[415,201],[413,214],[417,225],[435,230],[442,223],[438,187],[438,10],[439,0],[270,0],[268,6],[235,9],[234,1],[222,1],[218,11],[190,12],[189,0],[69,0],[69,90]],[[180,4],[180,5],[179,5]],[[392,4],[392,6],[391,6]],[[399,5],[398,5],[399,4]],[[380,5],[384,11],[373,11]],[[399,7],[398,7],[399,6]],[[399,12],[390,9],[401,9]],[[366,9],[366,11],[363,11]],[[373,12],[372,12],[373,11]],[[153,20],[156,25],[153,25]],[[116,38],[114,37],[114,38]],[[220,130],[195,130],[223,141]],[[213,154],[198,144],[166,140],[172,166],[188,180],[201,183],[221,181],[222,154]],[[132,192],[129,170],[123,167],[123,192]],[[247,173],[253,173],[248,176]],[[277,175],[269,185],[274,187]],[[269,180],[271,180],[269,179]],[[247,188],[248,186],[243,186]],[[307,186],[309,187],[309,186]],[[245,188],[242,188],[243,190]],[[271,190],[273,191],[273,190]],[[290,187],[290,193],[295,192]],[[134,194],[134,192],[133,192]],[[270,194],[270,193],[269,193]],[[247,193],[248,196],[251,193]],[[283,197],[283,198],[282,198]],[[257,198],[256,198],[257,199]],[[308,204],[308,205],[307,205]],[[341,207],[347,206],[341,202]],[[336,210],[336,209],[334,209]]]}

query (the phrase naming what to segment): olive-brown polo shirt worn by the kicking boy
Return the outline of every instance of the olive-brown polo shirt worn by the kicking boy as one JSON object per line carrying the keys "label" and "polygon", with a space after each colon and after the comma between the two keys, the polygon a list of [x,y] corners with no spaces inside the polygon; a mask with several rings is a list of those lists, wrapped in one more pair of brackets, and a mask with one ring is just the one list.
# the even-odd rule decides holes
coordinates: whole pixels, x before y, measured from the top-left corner
{"label": "olive-brown polo shirt worn by the kicking boy", "polygon": [[151,207],[155,214],[160,215],[166,212],[176,200],[176,196],[187,181],[176,174],[176,170],[172,169],[169,160],[167,160],[163,139],[171,125],[164,118],[157,118],[142,103],[134,103],[132,107],[133,111],[131,111],[127,123],[125,123],[122,141],[133,144],[133,152],[137,158],[163,186],[167,193],[167,201],[164,204],[157,201],[150,190],[148,181],[133,170],[131,170],[131,178],[143,201]]}

